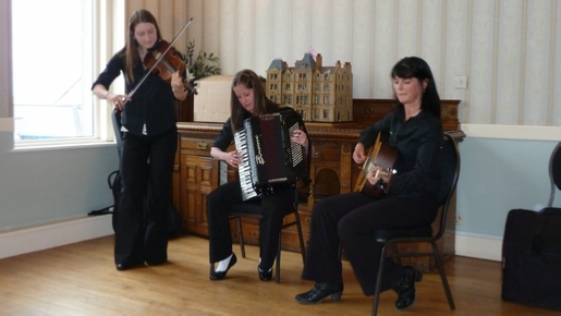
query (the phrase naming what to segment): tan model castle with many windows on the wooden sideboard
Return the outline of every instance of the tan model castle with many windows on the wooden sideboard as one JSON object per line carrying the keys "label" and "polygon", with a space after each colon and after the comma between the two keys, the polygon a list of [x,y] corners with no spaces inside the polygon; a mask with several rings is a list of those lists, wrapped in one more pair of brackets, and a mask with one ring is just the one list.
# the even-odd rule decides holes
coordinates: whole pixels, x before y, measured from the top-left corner
{"label": "tan model castle with many windows on the wooden sideboard", "polygon": [[305,53],[289,68],[276,59],[267,70],[267,97],[296,110],[304,121],[353,121],[353,72],[350,62],[324,66],[321,54]]}

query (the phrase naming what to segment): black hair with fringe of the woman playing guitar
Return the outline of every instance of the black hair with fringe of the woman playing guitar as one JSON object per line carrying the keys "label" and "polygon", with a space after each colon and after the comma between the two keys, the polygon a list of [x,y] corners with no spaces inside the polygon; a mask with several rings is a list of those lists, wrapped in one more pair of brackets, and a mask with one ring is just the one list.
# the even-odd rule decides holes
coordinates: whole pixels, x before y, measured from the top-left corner
{"label": "black hair with fringe of the woman playing guitar", "polygon": [[[420,83],[428,80],[426,88],[423,90],[423,100],[420,101],[420,109],[428,110],[440,120],[440,97],[438,96],[437,85],[435,77],[430,71],[430,66],[426,61],[418,57],[405,57],[400,60],[391,70],[391,77],[400,78],[417,78]],[[405,108],[394,95],[398,102],[398,111],[405,116]]]}

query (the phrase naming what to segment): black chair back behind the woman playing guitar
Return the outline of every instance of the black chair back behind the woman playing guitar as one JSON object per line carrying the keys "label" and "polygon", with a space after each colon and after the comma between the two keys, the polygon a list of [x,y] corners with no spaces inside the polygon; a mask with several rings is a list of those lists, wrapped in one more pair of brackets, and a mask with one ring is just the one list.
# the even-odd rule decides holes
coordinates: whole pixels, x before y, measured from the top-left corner
{"label": "black chair back behind the woman playing guitar", "polygon": [[460,149],[454,137],[444,133],[444,142],[440,153],[440,194],[438,203],[441,206],[440,226],[435,240],[440,239],[446,230],[448,208],[460,177]]}

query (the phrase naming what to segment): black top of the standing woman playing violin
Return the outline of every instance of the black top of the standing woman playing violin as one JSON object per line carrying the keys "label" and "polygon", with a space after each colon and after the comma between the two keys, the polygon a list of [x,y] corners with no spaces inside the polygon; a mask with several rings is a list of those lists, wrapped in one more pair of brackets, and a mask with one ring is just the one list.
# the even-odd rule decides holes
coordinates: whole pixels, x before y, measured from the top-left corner
{"label": "black top of the standing woman playing violin", "polygon": [[[126,94],[134,89],[146,71],[148,70],[145,70],[142,64],[134,66],[135,82],[131,83],[125,80]],[[92,88],[101,84],[109,89],[111,83],[121,73],[124,75],[124,54],[117,53],[109,60]],[[121,123],[130,133],[142,135],[145,123],[147,135],[158,135],[175,125],[178,119],[173,107],[173,92],[170,83],[163,81],[159,75],[150,73],[131,98],[132,100],[125,104],[121,114]]]}

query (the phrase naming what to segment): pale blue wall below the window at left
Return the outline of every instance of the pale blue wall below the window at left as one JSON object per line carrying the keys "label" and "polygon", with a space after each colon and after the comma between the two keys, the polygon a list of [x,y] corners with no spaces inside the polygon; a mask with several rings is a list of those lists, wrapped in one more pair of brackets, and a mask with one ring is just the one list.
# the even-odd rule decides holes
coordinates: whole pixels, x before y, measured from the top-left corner
{"label": "pale blue wall below the window at left", "polygon": [[12,151],[12,137],[0,133],[0,232],[113,204],[107,177],[118,168],[114,144]]}

